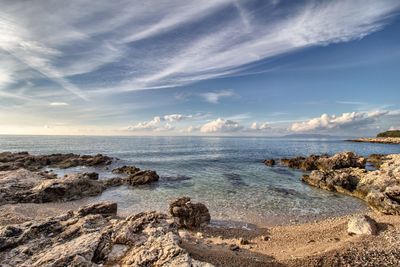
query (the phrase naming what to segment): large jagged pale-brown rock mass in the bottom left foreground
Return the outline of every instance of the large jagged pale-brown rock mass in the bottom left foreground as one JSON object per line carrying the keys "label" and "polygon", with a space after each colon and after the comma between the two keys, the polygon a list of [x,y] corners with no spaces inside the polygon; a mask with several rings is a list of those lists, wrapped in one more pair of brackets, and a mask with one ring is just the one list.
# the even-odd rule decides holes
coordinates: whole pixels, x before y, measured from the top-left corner
{"label": "large jagged pale-brown rock mass in the bottom left foreground", "polygon": [[211,266],[179,247],[167,215],[116,217],[115,203],[0,227],[1,266]]}

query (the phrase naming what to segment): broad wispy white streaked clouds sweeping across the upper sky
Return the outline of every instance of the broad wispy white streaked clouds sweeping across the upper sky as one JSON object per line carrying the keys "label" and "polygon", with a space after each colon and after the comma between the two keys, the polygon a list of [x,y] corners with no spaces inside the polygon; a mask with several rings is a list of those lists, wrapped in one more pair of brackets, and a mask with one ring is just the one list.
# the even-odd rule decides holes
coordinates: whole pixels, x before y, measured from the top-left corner
{"label": "broad wispy white streaked clouds sweeping across the upper sky", "polygon": [[[235,75],[310,46],[361,39],[400,8],[397,0],[316,1],[286,9],[274,2],[254,8],[239,0],[8,1],[0,14],[6,52],[0,61],[18,67],[0,81],[44,78],[83,99],[181,86]],[[220,97],[210,93],[207,99],[217,103]]]}

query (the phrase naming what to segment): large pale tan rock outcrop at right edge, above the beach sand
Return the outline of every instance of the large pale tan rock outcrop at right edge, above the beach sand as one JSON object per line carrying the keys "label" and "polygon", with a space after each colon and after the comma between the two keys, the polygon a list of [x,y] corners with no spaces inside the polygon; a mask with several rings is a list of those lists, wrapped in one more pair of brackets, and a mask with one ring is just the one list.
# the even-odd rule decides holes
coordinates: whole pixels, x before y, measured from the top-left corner
{"label": "large pale tan rock outcrop at right edge, above the beach sand", "polygon": [[379,170],[316,170],[304,175],[303,181],[364,199],[379,212],[400,215],[400,154],[387,155],[382,160]]}

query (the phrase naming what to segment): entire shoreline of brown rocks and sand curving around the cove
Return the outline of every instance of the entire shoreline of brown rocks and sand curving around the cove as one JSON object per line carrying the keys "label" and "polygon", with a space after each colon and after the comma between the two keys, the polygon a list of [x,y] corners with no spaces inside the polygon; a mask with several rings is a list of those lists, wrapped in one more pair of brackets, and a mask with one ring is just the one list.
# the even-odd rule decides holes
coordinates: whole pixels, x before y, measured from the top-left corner
{"label": "entire shoreline of brown rocks and sand curving around the cove", "polygon": [[[365,200],[375,211],[268,228],[210,225],[202,203],[121,217],[113,202],[76,206],[109,187],[157,182],[135,166],[58,177],[51,168],[110,166],[103,155],[0,153],[0,266],[399,266],[400,155],[352,152],[270,159],[303,181]],[[372,164],[376,170],[367,170]],[[72,202],[71,202],[72,201]],[[57,208],[52,206],[59,203]],[[167,212],[167,211],[166,211]]]}

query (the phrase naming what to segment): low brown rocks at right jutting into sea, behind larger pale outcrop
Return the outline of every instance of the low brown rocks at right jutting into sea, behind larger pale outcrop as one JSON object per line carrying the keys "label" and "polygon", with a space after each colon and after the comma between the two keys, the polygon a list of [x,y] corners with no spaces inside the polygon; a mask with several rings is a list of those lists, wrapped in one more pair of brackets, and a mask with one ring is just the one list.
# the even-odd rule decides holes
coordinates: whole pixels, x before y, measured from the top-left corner
{"label": "low brown rocks at right jutting into sea, behind larger pale outcrop", "polygon": [[337,170],[350,167],[365,168],[365,163],[365,158],[350,151],[337,153],[332,157],[328,155],[311,155],[309,157],[281,159],[282,165],[304,171]]}

